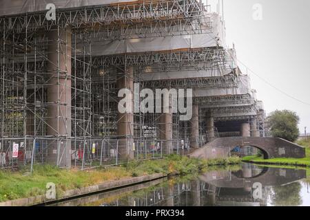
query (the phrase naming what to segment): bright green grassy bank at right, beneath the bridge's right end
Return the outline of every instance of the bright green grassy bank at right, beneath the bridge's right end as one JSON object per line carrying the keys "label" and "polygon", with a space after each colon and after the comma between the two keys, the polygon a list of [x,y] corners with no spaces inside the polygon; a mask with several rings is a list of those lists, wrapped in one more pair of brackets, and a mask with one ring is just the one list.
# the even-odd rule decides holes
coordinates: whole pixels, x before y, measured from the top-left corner
{"label": "bright green grassy bank at right, beneath the bridge's right end", "polygon": [[258,164],[278,164],[285,166],[306,166],[310,168],[310,140],[302,140],[297,142],[300,146],[306,148],[306,157],[296,159],[296,158],[273,158],[273,159],[263,159],[260,156],[253,157],[243,157],[242,161],[253,162]]}

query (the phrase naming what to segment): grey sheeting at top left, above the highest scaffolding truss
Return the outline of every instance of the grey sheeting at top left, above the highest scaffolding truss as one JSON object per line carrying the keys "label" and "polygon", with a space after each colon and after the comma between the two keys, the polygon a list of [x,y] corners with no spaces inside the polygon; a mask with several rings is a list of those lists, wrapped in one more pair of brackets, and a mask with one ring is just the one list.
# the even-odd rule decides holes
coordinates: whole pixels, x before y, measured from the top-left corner
{"label": "grey sheeting at top left, above the highest scaffolding truss", "polygon": [[44,11],[48,3],[54,3],[56,8],[78,8],[127,1],[134,0],[0,0],[0,16]]}

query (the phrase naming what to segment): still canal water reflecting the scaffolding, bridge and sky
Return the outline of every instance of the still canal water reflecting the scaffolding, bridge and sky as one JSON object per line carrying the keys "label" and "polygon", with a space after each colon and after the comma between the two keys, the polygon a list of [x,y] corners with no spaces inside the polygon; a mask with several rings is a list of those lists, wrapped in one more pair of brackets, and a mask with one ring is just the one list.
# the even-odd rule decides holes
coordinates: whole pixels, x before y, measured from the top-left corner
{"label": "still canal water reflecting the scaffolding, bridge and sky", "polygon": [[175,177],[52,206],[310,206],[307,171],[241,164]]}

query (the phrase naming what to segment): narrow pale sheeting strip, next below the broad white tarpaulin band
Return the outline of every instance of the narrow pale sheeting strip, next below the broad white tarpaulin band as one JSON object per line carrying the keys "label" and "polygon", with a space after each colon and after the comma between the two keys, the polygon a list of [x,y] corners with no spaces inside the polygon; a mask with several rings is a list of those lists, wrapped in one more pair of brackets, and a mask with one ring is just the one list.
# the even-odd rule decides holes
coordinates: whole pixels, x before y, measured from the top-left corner
{"label": "narrow pale sheeting strip, next below the broad white tarpaulin band", "polygon": [[173,71],[143,74],[143,80],[173,80],[180,78],[220,77],[231,73],[231,69],[207,69],[201,71]]}

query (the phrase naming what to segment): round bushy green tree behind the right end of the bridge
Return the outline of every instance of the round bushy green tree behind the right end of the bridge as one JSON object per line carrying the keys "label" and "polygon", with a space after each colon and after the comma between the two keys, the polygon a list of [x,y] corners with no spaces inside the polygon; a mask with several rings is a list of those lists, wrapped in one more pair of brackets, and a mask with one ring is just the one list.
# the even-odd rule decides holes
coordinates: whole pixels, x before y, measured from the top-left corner
{"label": "round bushy green tree behind the right end of the bridge", "polygon": [[273,137],[280,137],[290,142],[297,140],[299,116],[296,112],[289,110],[273,111],[267,120]]}

